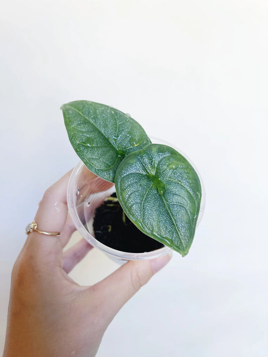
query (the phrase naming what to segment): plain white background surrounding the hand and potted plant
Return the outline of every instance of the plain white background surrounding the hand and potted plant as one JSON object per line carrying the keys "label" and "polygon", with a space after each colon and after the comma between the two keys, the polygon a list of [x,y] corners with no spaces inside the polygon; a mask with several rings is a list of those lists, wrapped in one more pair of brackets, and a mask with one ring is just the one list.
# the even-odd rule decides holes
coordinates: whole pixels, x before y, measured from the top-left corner
{"label": "plain white background surrounding the hand and potted plant", "polygon": [[[1,9],[1,316],[45,189],[78,161],[61,104],[130,113],[199,169],[206,209],[108,328],[98,357],[267,355],[265,0],[11,0]],[[82,284],[115,269],[91,252]]]}

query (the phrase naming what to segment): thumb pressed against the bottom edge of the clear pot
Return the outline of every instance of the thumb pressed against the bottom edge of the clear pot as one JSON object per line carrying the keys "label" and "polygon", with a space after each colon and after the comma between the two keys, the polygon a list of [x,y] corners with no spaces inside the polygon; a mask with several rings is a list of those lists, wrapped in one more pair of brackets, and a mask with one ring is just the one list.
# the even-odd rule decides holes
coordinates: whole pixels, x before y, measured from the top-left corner
{"label": "thumb pressed against the bottom edge of the clear pot", "polygon": [[94,291],[108,323],[122,306],[170,260],[172,253],[154,259],[131,260],[97,283]]}

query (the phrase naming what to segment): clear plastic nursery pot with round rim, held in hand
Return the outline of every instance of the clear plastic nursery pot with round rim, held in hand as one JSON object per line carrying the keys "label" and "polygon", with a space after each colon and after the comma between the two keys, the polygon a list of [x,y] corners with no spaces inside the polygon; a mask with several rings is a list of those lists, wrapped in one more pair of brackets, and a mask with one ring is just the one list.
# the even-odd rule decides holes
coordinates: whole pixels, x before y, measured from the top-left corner
{"label": "clear plastic nursery pot with round rim, held in hand", "polygon": [[[151,138],[151,141],[153,143],[172,146],[174,149],[181,152],[176,147],[170,145],[167,142],[164,142],[163,140]],[[182,154],[186,157],[184,153]],[[187,159],[189,160],[188,157]],[[191,164],[195,168],[192,162]],[[200,213],[199,213],[197,225],[201,221],[204,207],[205,207],[204,185],[199,173],[198,175],[202,188],[202,201],[201,201]],[[119,261],[135,260],[135,259],[151,259],[151,258],[156,258],[157,256],[160,255],[164,255],[167,252],[171,251],[171,249],[168,248],[167,246],[163,246],[162,248],[152,250],[149,252],[143,252],[143,253],[125,252],[125,251],[113,249],[99,242],[95,238],[94,229],[93,229],[95,210],[97,207],[100,207],[104,203],[105,199],[111,196],[111,194],[113,194],[114,192],[115,192],[114,184],[101,179],[101,177],[96,176],[83,164],[82,161],[79,161],[78,164],[74,167],[68,185],[67,204],[68,204],[68,209],[71,219],[76,229],[83,236],[83,238],[87,240],[88,243],[90,243],[94,247],[100,249],[101,251],[107,253],[110,257],[113,257]]]}

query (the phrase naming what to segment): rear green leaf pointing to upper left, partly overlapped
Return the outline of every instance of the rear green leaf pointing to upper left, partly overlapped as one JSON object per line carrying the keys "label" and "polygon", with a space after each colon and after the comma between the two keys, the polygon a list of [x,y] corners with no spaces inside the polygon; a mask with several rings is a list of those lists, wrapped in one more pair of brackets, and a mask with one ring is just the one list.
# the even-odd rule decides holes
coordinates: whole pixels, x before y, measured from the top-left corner
{"label": "rear green leaf pointing to upper left, partly overlapped", "polygon": [[134,119],[112,107],[75,101],[61,109],[75,152],[87,168],[104,180],[114,182],[123,158],[151,143]]}

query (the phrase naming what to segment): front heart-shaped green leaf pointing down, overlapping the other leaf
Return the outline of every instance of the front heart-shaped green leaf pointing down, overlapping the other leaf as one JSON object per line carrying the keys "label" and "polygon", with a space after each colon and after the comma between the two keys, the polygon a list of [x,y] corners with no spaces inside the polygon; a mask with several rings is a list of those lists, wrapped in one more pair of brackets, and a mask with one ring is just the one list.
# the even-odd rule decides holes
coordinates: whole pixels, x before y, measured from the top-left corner
{"label": "front heart-shaped green leaf pointing down, overlapping the other leaf", "polygon": [[194,239],[201,184],[190,162],[166,145],[126,156],[115,176],[118,200],[145,234],[185,256]]}

